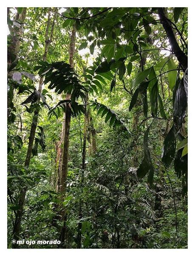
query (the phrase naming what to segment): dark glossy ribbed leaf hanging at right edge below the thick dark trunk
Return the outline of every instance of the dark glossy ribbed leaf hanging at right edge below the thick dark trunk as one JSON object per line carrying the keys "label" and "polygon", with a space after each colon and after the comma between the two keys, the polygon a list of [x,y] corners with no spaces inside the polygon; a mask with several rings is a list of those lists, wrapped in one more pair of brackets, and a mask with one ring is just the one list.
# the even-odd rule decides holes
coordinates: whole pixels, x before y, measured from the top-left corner
{"label": "dark glossy ribbed leaf hanging at right edge below the thick dark trunk", "polygon": [[184,87],[184,78],[181,79],[175,92],[173,121],[177,130],[181,128],[187,112],[187,95]]}

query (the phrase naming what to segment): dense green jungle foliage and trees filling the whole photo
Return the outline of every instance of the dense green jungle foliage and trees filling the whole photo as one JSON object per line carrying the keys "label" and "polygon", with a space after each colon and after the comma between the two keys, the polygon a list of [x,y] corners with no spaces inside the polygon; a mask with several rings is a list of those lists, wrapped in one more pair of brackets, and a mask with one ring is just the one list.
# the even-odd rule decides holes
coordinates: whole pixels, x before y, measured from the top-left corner
{"label": "dense green jungle foliage and trees filling the whole photo", "polygon": [[187,248],[187,8],[7,18],[8,248]]}

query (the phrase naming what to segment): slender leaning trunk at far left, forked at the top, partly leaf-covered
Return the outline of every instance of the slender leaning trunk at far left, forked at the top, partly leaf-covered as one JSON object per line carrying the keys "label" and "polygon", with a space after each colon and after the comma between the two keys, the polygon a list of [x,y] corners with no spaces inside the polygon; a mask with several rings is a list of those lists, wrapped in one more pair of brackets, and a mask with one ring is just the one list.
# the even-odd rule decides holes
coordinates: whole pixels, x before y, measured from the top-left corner
{"label": "slender leaning trunk at far left, forked at the top, partly leaf-covered", "polygon": [[[56,15],[57,15],[57,9],[55,9],[54,20],[53,20],[53,23],[51,26],[51,35],[49,38],[48,37],[48,29],[50,26],[50,14],[51,14],[51,10],[49,10],[49,13],[48,13],[48,22],[47,22],[47,28],[46,28],[46,32],[45,32],[45,51],[44,51],[44,55],[43,55],[43,61],[45,61],[47,58],[48,46],[52,40],[52,36],[53,36],[53,32],[54,32],[54,23],[55,23],[55,19],[56,19]],[[42,92],[42,83],[43,83],[43,78],[40,78],[39,92]],[[28,141],[28,149],[27,149],[26,158],[25,158],[25,164],[24,164],[25,167],[28,167],[30,164],[33,142],[34,142],[36,127],[37,127],[37,122],[38,122],[38,115],[39,115],[39,111],[35,110],[32,124],[31,124],[31,131],[30,131],[30,136],[29,136],[29,141]],[[18,240],[19,236],[20,236],[20,227],[21,227],[21,220],[22,220],[22,215],[23,215],[23,207],[24,207],[26,191],[27,191],[27,187],[23,187],[23,189],[20,191],[20,194],[19,194],[18,205],[20,208],[16,211],[15,222],[14,222],[14,227],[13,227],[13,238],[16,240]],[[14,247],[17,248],[17,244],[15,244]]]}

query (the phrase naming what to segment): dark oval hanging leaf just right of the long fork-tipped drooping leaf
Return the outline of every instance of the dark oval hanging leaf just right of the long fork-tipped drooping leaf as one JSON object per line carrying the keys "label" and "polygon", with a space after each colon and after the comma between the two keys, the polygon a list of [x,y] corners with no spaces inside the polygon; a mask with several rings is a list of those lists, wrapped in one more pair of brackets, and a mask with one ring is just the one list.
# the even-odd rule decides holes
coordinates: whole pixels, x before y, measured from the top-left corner
{"label": "dark oval hanging leaf just right of the long fork-tipped drooping leaf", "polygon": [[172,125],[170,131],[168,132],[166,138],[164,139],[164,144],[163,144],[162,162],[166,167],[170,166],[175,156],[175,148],[176,148],[175,128],[174,128],[174,125]]}

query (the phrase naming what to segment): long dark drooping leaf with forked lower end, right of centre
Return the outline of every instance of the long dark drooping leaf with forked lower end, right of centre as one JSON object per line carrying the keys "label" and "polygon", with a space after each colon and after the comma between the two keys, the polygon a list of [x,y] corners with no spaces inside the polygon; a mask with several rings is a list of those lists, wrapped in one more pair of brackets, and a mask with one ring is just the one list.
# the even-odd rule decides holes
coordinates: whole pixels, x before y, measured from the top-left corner
{"label": "long dark drooping leaf with forked lower end, right of centre", "polygon": [[150,127],[148,127],[144,133],[144,159],[137,170],[137,175],[139,178],[143,178],[150,171],[148,181],[151,185],[153,183],[154,167],[150,158],[150,151],[148,149],[149,130]]}

